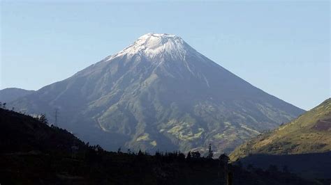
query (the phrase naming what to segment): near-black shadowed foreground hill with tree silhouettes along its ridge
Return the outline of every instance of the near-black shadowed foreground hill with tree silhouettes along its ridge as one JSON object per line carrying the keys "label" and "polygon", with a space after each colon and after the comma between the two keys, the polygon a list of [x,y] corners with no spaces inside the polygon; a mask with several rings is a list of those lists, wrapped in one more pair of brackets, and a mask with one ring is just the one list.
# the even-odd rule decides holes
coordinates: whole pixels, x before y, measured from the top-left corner
{"label": "near-black shadowed foreground hill with tree silhouettes along its ridge", "polygon": [[[219,184],[226,163],[193,154],[106,152],[45,120],[0,108],[1,184]],[[222,159],[226,159],[223,156]],[[318,184],[289,172],[228,165],[234,184]]]}

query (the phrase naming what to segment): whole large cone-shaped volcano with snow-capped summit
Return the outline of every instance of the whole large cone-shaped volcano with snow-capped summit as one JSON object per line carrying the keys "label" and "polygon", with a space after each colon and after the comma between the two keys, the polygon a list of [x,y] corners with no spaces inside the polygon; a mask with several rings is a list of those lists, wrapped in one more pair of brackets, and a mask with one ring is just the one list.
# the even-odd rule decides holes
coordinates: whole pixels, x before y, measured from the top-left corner
{"label": "whole large cone-shaped volcano with snow-capped summit", "polygon": [[[176,35],[143,35],[64,81],[13,106],[108,150],[230,152],[304,111],[268,95],[198,53]],[[64,124],[66,122],[66,124]]]}

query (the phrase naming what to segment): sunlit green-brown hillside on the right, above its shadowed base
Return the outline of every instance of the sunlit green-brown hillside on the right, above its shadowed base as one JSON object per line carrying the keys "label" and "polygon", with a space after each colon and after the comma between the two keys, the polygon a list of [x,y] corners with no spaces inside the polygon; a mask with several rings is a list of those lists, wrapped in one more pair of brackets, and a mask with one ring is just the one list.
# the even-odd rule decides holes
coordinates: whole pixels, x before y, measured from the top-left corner
{"label": "sunlit green-brown hillside on the right, above its shadowed base", "polygon": [[331,151],[331,98],[274,131],[249,140],[230,154],[306,154]]}

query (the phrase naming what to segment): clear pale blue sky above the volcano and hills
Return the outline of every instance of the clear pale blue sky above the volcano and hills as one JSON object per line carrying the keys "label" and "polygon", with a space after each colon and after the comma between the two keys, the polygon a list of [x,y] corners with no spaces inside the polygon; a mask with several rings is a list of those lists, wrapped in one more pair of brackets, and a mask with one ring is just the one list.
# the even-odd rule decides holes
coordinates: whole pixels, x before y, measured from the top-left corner
{"label": "clear pale blue sky above the volcano and hills", "polygon": [[0,89],[61,81],[150,32],[300,108],[330,97],[329,1],[1,1]]}

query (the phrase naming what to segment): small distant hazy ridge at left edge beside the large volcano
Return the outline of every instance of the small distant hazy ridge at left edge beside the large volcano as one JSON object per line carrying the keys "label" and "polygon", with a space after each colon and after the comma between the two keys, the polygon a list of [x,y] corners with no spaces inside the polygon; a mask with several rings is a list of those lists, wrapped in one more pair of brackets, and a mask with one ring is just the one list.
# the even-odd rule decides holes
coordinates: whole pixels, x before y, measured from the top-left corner
{"label": "small distant hazy ridge at left edge beside the large volcano", "polygon": [[34,90],[24,90],[22,88],[5,88],[0,90],[0,102],[8,103],[15,99],[34,93]]}

